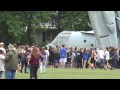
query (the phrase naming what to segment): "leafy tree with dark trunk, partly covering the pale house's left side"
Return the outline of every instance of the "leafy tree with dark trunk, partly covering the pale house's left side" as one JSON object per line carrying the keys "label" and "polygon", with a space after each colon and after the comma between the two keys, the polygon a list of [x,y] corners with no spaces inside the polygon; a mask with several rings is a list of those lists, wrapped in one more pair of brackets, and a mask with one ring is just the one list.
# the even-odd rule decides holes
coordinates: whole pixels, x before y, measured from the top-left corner
{"label": "leafy tree with dark trunk, partly covering the pale house's left side", "polygon": [[51,11],[23,11],[23,21],[28,44],[34,42],[31,34],[37,30],[45,30],[46,23],[51,19]]}

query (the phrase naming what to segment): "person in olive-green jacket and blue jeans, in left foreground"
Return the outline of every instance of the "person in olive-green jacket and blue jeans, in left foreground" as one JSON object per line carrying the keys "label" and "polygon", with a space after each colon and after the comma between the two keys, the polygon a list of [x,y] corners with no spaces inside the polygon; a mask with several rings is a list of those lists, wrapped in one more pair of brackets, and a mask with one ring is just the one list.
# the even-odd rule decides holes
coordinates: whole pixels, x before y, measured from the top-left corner
{"label": "person in olive-green jacket and blue jeans, in left foreground", "polygon": [[9,52],[5,57],[5,79],[15,79],[18,70],[18,54],[12,44],[8,46]]}

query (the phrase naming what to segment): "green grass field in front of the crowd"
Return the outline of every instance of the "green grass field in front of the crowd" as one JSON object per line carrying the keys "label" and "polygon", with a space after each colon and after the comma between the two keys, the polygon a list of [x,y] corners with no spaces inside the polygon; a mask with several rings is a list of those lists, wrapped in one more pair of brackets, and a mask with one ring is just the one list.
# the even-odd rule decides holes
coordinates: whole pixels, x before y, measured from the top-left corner
{"label": "green grass field in front of the crowd", "polygon": [[[29,73],[17,73],[16,79],[29,79],[29,76]],[[120,69],[47,68],[43,74],[38,70],[38,79],[120,79]]]}

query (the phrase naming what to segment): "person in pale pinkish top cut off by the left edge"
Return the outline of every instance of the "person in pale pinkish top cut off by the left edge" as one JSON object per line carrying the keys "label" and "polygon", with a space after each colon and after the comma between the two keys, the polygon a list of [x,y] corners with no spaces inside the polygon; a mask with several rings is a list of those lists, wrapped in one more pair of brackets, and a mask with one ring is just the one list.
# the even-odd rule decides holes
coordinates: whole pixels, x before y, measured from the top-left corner
{"label": "person in pale pinkish top cut off by the left edge", "polygon": [[0,79],[2,79],[2,75],[4,72],[4,59],[5,56],[3,55],[3,51],[0,50]]}

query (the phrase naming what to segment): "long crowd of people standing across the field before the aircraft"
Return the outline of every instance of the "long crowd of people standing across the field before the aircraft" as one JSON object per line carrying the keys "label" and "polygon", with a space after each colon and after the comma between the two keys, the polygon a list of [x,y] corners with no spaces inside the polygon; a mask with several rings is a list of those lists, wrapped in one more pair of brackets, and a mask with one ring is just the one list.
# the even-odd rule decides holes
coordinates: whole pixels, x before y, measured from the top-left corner
{"label": "long crowd of people standing across the field before the aircraft", "polygon": [[0,43],[0,79],[15,79],[16,72],[30,73],[30,79],[37,79],[37,72],[42,74],[46,67],[52,68],[91,68],[110,69],[120,67],[120,49],[106,47],[106,50],[95,48],[66,48],[64,45],[56,48],[37,45],[12,45],[4,48]]}

